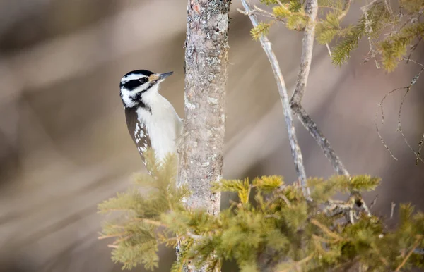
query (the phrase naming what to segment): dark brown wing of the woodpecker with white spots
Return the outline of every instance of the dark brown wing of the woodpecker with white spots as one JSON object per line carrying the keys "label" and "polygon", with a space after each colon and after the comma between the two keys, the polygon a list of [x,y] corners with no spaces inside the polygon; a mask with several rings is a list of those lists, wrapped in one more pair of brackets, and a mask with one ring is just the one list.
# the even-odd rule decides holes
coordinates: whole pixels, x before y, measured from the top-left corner
{"label": "dark brown wing of the woodpecker with white spots", "polygon": [[148,137],[146,125],[138,120],[135,108],[125,108],[125,117],[129,134],[131,135],[134,144],[136,144],[141,160],[144,165],[146,165],[146,159],[144,158],[143,152],[145,152],[148,147],[151,147],[151,141]]}

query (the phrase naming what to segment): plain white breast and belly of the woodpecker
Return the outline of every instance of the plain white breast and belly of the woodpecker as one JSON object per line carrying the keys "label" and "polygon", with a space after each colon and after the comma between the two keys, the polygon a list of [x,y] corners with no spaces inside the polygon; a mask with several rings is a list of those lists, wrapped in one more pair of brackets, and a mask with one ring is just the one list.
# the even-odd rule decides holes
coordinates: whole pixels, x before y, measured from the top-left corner
{"label": "plain white breast and belly of the woodpecker", "polygon": [[182,120],[172,104],[158,92],[151,92],[143,100],[151,107],[152,113],[138,109],[137,116],[146,125],[156,159],[162,161],[167,154],[176,152],[175,140],[182,132]]}

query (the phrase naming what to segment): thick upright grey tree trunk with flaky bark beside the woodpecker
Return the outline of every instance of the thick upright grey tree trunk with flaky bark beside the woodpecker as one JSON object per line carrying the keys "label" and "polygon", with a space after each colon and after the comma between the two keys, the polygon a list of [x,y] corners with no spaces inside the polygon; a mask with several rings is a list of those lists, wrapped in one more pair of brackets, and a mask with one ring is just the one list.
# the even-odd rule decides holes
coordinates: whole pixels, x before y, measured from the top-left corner
{"label": "thick upright grey tree trunk with flaky bark beside the woodpecker", "polygon": [[[185,42],[184,129],[178,185],[187,183],[189,209],[217,215],[222,178],[230,0],[189,0]],[[189,268],[189,271],[193,271]]]}

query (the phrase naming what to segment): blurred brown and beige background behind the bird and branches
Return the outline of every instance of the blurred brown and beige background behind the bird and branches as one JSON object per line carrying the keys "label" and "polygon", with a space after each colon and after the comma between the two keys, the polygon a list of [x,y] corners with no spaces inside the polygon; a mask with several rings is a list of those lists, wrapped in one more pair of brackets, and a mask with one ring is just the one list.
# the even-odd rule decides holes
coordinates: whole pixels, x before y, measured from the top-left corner
{"label": "blurred brown and beige background behind the bird and branches", "polygon": [[[1,271],[120,271],[107,241],[97,240],[104,217],[96,214],[99,202],[143,171],[126,130],[119,80],[138,68],[174,70],[162,93],[182,116],[186,2],[0,1]],[[225,178],[281,174],[291,182],[295,171],[276,83],[260,45],[249,37],[249,20],[236,8],[234,0]],[[348,20],[358,15],[358,6],[351,9]],[[291,90],[302,34],[280,25],[270,39]],[[350,63],[336,68],[317,45],[303,104],[351,174],[383,178],[378,214],[389,216],[391,201],[423,209],[424,167],[414,164],[395,131],[401,93],[387,99],[381,129],[398,161],[384,149],[374,123],[382,96],[408,85],[420,67],[403,64],[388,75],[372,61],[361,64],[367,51],[363,41]],[[413,58],[424,61],[420,49]],[[414,148],[424,132],[423,82],[408,95],[402,117]],[[331,175],[317,144],[296,123],[307,175]],[[169,271],[174,250],[161,249],[160,256],[158,271]]]}

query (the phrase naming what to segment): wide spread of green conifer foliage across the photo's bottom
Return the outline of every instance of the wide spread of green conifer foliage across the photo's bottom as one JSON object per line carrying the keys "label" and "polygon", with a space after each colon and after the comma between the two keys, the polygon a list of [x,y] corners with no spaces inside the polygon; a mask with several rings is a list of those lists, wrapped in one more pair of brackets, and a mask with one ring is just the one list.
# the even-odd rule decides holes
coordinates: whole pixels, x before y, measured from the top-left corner
{"label": "wide spread of green conifer foliage across the photo's bottom", "polygon": [[275,271],[343,270],[353,262],[363,271],[389,271],[424,264],[416,250],[424,247],[423,213],[403,205],[398,228],[387,230],[380,218],[355,207],[355,199],[334,200],[336,194],[374,190],[379,178],[310,178],[312,202],[298,185],[285,185],[278,175],[252,183],[221,180],[214,190],[235,192],[239,201],[212,216],[184,208],[182,198],[189,192],[172,186],[172,161],[170,156],[162,166],[150,164],[158,173],[153,179],[141,182],[139,176],[138,183],[154,187],[148,195],[132,189],[99,205],[102,212],[125,211],[123,218],[104,225],[100,237],[114,239],[112,259],[123,268],[157,267],[158,245],[175,247],[177,234],[183,253],[172,272],[181,272],[184,264],[207,264],[213,271],[225,260],[236,261],[241,271],[259,271],[264,254],[282,260]]}

